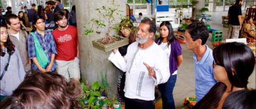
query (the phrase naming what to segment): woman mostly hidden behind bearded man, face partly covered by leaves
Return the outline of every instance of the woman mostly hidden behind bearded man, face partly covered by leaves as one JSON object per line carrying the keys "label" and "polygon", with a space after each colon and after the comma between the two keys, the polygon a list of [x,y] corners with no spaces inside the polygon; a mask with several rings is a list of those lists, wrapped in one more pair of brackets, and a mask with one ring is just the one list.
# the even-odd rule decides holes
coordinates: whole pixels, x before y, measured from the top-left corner
{"label": "woman mostly hidden behind bearded man, face partly covered by leaves", "polygon": [[[135,31],[133,27],[133,23],[128,19],[123,19],[119,24],[119,36],[123,36],[129,39],[129,44],[124,45],[123,47],[119,47],[118,50],[120,54],[124,57],[127,53],[128,46],[135,42]],[[120,70],[118,81],[117,81],[117,99],[119,102],[124,102],[124,83],[126,80],[126,72]]]}

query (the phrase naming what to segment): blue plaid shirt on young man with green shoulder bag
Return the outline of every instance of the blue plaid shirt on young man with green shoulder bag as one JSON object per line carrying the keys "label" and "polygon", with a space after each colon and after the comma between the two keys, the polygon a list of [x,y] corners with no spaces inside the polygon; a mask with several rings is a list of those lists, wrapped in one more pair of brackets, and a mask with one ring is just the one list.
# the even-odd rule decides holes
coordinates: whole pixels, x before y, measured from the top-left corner
{"label": "blue plaid shirt on young man with green shoulder bag", "polygon": [[[39,34],[37,31],[35,31],[35,34],[36,34],[36,37],[38,38],[38,41],[39,41],[41,47],[43,48],[43,50],[45,50],[45,53],[49,59],[49,62],[47,64],[47,66],[48,66],[51,62],[52,54],[58,54],[54,39],[52,37],[52,33],[50,31],[45,30],[44,37],[41,34]],[[36,57],[36,47],[35,47],[35,43],[34,43],[34,38],[31,34],[28,35],[27,43],[28,43],[28,55],[29,55],[30,59],[33,59],[34,57]],[[56,68],[56,64],[54,61],[51,71],[55,71],[55,68]],[[32,62],[32,69],[35,71],[39,71],[38,67],[33,62]],[[46,68],[44,68],[44,69],[46,69]]]}

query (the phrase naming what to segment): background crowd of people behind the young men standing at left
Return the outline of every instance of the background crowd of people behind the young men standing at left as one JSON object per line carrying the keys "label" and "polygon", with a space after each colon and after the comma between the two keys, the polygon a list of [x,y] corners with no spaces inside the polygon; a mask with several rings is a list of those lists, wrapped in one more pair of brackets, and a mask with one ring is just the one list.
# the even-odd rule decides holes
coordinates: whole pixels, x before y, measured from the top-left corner
{"label": "background crowd of people behind the young men standing at left", "polygon": [[[32,26],[33,17],[39,15],[45,19],[45,24],[50,24],[53,20],[53,15],[57,11],[63,11],[66,13],[68,24],[72,26],[76,26],[76,7],[73,5],[71,8],[71,12],[68,9],[64,9],[63,4],[61,4],[61,0],[49,0],[45,2],[45,7],[43,8],[41,5],[38,5],[36,8],[36,4],[31,5],[31,9],[28,9],[26,6],[23,7],[21,11],[18,12],[18,17],[21,22],[21,29],[26,30],[27,27],[30,28]],[[2,7],[0,8],[0,22],[5,24],[5,17],[8,14],[14,14],[12,12],[12,7],[7,7],[7,12],[2,14]],[[28,30],[26,30],[28,31]]]}

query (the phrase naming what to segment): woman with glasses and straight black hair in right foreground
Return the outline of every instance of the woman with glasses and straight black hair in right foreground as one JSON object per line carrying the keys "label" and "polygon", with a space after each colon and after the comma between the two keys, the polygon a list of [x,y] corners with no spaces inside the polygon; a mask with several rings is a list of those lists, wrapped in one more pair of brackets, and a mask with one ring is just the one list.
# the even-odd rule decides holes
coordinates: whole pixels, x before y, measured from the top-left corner
{"label": "woman with glasses and straight black hair in right foreground", "polygon": [[255,57],[244,43],[225,43],[213,49],[213,76],[219,81],[193,108],[222,109],[226,97],[247,89],[248,78],[254,70]]}

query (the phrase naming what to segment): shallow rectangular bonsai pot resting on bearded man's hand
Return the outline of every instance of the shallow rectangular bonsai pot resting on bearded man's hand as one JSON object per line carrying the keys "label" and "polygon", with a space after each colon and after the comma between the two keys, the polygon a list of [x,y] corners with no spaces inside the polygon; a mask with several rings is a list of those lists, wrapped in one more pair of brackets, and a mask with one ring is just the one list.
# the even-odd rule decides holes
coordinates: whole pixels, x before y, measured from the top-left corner
{"label": "shallow rectangular bonsai pot resting on bearded man's hand", "polygon": [[99,49],[99,50],[103,50],[104,52],[108,52],[108,51],[113,50],[115,48],[122,47],[124,45],[129,44],[129,39],[128,38],[124,38],[124,37],[119,36],[119,35],[114,35],[114,36],[121,38],[121,40],[118,40],[114,43],[109,43],[109,44],[106,44],[106,45],[98,42],[98,40],[100,40],[100,39],[93,40],[92,41],[92,46]]}

